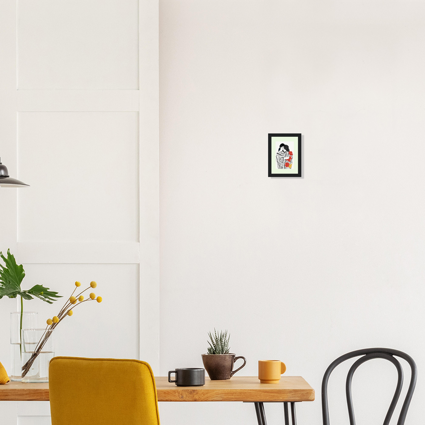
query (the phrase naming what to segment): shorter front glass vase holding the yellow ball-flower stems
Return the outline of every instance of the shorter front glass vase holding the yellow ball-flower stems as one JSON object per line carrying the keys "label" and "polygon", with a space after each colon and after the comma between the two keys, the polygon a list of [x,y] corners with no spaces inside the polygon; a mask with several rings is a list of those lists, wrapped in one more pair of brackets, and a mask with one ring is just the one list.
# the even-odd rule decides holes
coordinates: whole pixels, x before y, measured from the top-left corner
{"label": "shorter front glass vase holding the yellow ball-flower stems", "polygon": [[22,329],[22,382],[49,382],[54,330]]}

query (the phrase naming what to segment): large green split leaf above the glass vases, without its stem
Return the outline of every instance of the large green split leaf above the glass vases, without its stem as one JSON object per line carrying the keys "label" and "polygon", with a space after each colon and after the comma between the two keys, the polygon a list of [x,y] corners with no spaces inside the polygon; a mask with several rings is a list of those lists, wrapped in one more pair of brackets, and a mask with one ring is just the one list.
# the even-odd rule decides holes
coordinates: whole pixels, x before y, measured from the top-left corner
{"label": "large green split leaf above the glass vases, without its stem", "polygon": [[49,291],[42,285],[35,285],[31,289],[23,291],[21,282],[25,278],[25,270],[22,264],[17,264],[15,257],[7,250],[7,258],[0,252],[0,257],[3,259],[5,266],[0,264],[0,299],[3,297],[16,298],[18,295],[24,300],[33,300],[34,297],[46,303],[52,304],[56,301],[54,298],[61,297],[57,292]]}

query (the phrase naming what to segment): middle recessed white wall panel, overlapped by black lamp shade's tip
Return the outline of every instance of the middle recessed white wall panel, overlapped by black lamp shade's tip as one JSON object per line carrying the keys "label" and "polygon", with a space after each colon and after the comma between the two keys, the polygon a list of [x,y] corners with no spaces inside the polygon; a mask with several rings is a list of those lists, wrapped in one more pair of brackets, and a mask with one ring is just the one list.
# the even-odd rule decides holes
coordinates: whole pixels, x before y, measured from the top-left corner
{"label": "middle recessed white wall panel, overlapped by black lamp shade's tip", "polygon": [[138,241],[138,127],[136,112],[20,112],[18,241]]}

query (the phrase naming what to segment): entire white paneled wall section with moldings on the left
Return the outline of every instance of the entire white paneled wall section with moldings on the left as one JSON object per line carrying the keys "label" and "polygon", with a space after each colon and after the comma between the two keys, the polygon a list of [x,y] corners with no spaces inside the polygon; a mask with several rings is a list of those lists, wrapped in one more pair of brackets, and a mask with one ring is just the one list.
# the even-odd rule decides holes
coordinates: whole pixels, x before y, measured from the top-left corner
{"label": "entire white paneled wall section with moldings on the left", "polygon": [[[98,282],[103,302],[61,324],[57,355],[142,357],[155,369],[158,1],[5,0],[0,48],[0,156],[31,185],[0,190],[0,249],[23,263],[24,289],[66,297],[75,280]],[[7,369],[16,300],[0,303]],[[61,306],[25,302],[40,325]],[[1,403],[2,425],[50,422],[46,403]]]}

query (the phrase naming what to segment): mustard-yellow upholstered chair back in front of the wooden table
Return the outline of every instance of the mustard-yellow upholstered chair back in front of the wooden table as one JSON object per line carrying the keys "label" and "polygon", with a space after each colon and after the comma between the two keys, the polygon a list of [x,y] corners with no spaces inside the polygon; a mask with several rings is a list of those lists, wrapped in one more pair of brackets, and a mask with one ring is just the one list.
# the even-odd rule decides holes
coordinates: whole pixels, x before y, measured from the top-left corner
{"label": "mustard-yellow upholstered chair back in front of the wooden table", "polygon": [[140,360],[54,357],[52,425],[159,425],[155,378]]}

